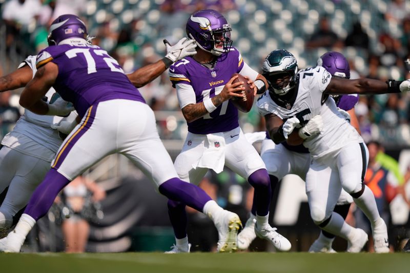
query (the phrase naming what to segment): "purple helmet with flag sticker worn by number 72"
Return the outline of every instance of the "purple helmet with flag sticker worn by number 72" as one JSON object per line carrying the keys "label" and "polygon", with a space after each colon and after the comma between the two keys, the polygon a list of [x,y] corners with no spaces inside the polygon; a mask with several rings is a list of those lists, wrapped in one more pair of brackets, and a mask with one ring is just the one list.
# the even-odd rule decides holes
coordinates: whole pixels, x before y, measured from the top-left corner
{"label": "purple helmet with flag sticker worn by number 72", "polygon": [[48,45],[56,46],[62,40],[69,38],[81,38],[90,42],[86,25],[77,15],[64,14],[58,16],[50,26],[47,37]]}

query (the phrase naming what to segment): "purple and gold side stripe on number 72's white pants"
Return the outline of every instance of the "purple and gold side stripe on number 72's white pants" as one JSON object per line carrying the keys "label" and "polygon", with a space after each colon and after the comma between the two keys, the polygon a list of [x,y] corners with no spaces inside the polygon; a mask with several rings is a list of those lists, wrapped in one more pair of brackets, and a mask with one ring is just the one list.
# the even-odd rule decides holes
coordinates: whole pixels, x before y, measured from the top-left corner
{"label": "purple and gold side stripe on number 72's white pants", "polygon": [[73,148],[74,144],[80,139],[81,136],[83,136],[88,129],[90,129],[95,113],[97,112],[97,106],[92,105],[87,113],[87,117],[84,120],[84,123],[81,124],[80,128],[70,137],[70,139],[64,144],[63,148],[61,148],[57,156],[54,160],[54,164],[51,166],[54,169],[58,169],[58,167],[61,165],[61,163],[64,162],[64,159],[66,158],[67,154],[70,152],[71,148]]}

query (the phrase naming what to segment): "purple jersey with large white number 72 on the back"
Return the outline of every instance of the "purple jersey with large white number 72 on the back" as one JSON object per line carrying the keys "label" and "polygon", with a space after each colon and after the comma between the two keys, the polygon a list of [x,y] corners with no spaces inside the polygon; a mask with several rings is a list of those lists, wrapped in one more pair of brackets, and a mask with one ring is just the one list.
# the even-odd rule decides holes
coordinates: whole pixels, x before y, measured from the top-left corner
{"label": "purple jersey with large white number 72 on the back", "polygon": [[73,103],[81,117],[100,101],[129,99],[145,103],[118,62],[97,46],[50,46],[38,53],[36,67],[49,61],[58,66],[54,89],[64,100]]}

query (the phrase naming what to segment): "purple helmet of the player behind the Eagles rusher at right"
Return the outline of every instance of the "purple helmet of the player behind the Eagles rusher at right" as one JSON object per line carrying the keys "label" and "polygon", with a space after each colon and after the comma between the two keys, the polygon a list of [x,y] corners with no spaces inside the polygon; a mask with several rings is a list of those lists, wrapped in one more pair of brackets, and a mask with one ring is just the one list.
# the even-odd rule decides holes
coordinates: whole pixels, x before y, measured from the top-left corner
{"label": "purple helmet of the player behind the Eagles rusher at right", "polygon": [[350,78],[349,62],[342,53],[330,51],[317,60],[317,65],[324,67],[333,77]]}

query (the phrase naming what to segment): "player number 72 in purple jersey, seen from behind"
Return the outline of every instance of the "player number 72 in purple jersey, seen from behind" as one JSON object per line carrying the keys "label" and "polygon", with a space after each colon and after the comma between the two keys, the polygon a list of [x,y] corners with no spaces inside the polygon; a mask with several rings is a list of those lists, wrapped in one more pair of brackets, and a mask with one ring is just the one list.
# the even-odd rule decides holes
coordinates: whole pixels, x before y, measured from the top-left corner
{"label": "player number 72 in purple jersey, seen from behind", "polygon": [[[34,191],[14,230],[0,240],[0,251],[18,252],[58,192],[78,174],[113,153],[126,155],[158,186],[161,194],[209,215],[221,244],[229,236],[236,238],[237,230],[231,226],[239,222],[238,216],[224,211],[200,188],[177,178],[156,131],[153,111],[117,62],[106,51],[90,45],[87,36],[86,26],[77,16],[61,15],[55,19],[49,39],[56,46],[38,54],[38,71],[20,96],[20,104],[34,113],[69,113],[67,106],[52,111],[53,104],[42,100],[47,90],[54,87],[63,99],[73,103],[82,119],[61,145],[52,169]],[[190,44],[191,41],[186,46]],[[171,54],[176,60],[183,57],[182,53],[180,48]],[[160,69],[165,70],[165,62],[173,60],[164,60]],[[153,69],[150,73],[155,75],[158,71]]]}

